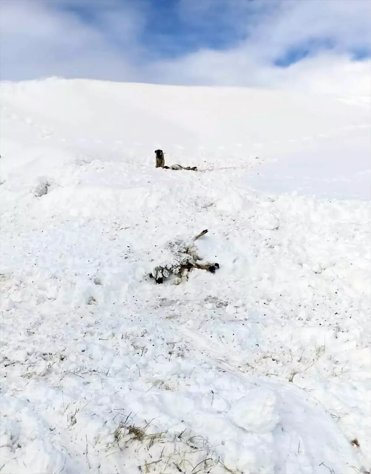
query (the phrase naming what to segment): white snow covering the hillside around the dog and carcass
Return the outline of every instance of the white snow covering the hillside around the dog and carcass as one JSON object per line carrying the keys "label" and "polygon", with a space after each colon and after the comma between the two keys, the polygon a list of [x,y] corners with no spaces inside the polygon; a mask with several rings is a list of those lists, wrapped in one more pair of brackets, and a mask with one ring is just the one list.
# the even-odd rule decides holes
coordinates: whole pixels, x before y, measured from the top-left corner
{"label": "white snow covering the hillside around the dog and carcass", "polygon": [[[370,471],[369,100],[50,78],[0,107],[1,473]],[[206,228],[218,272],[148,278]]]}

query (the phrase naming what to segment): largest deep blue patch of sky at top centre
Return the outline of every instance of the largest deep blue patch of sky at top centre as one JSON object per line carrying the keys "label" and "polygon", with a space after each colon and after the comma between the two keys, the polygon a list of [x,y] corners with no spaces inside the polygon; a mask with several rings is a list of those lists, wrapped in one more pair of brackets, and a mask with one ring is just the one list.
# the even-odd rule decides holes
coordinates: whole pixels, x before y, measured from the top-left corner
{"label": "largest deep blue patch of sky at top centre", "polygon": [[[65,0],[60,8],[73,11],[81,21],[102,28],[108,36],[110,32],[99,20],[103,8],[118,15],[120,12],[125,14],[128,9],[135,11],[143,19],[138,40],[155,57],[173,58],[204,47],[224,49],[246,36],[238,33],[236,18],[228,15],[231,9],[225,1],[215,0],[204,10],[201,7],[194,16],[183,15],[179,0],[114,0],[109,4],[102,1]],[[196,4],[204,0],[188,1]],[[120,46],[120,39],[113,37],[112,41]]]}

